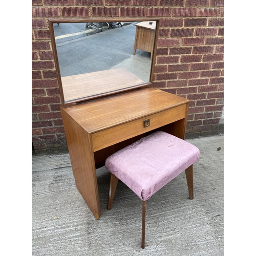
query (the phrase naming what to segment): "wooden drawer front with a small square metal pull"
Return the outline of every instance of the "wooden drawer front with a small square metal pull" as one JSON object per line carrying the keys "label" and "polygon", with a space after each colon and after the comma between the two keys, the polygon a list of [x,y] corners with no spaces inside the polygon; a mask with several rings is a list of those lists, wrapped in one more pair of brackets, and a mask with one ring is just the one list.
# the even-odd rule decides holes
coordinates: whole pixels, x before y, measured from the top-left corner
{"label": "wooden drawer front with a small square metal pull", "polygon": [[122,123],[92,134],[93,150],[98,151],[126,139],[157,129],[186,117],[186,104]]}

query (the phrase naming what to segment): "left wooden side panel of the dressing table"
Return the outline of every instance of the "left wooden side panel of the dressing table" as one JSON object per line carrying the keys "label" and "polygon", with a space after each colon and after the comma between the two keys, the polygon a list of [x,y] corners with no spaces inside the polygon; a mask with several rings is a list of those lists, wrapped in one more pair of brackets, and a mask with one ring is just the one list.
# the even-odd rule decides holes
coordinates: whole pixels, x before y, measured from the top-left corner
{"label": "left wooden side panel of the dressing table", "polygon": [[92,211],[101,215],[91,135],[60,107],[76,187]]}

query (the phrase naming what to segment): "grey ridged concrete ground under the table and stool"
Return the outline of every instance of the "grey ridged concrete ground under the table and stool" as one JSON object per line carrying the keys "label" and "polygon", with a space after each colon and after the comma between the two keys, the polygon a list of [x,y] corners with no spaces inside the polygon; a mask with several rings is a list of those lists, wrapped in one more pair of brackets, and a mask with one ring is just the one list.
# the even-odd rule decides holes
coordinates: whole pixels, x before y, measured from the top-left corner
{"label": "grey ridged concrete ground under the table and stool", "polygon": [[106,210],[109,173],[97,169],[102,215],[95,220],[72,174],[69,154],[32,156],[32,255],[224,255],[223,135],[188,139],[200,150],[194,200],[182,173],[147,201],[119,181]]}

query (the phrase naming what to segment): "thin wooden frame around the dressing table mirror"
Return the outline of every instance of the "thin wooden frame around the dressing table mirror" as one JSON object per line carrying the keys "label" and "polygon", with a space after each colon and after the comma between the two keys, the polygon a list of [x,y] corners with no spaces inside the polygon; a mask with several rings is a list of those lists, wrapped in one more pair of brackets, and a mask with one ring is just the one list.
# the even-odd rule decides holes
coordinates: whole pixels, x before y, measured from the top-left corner
{"label": "thin wooden frame around the dressing table mirror", "polygon": [[[103,22],[150,22],[152,20],[156,21],[156,32],[155,32],[153,57],[152,57],[152,62],[151,62],[150,82],[138,84],[136,86],[129,87],[129,88],[123,88],[123,89],[118,89],[118,90],[114,90],[114,91],[110,91],[110,92],[104,92],[104,93],[100,93],[97,95],[81,97],[79,99],[74,99],[74,100],[65,102],[65,97],[64,97],[63,88],[62,88],[62,81],[61,81],[61,76],[60,76],[60,68],[59,68],[59,62],[58,62],[58,54],[57,54],[53,24],[55,24],[55,23],[57,23],[57,24],[61,24],[61,23],[103,23]],[[54,62],[55,62],[55,69],[56,69],[57,80],[58,80],[58,84],[59,84],[61,105],[78,103],[78,102],[82,102],[82,101],[86,101],[86,100],[100,98],[100,97],[107,96],[107,95],[113,95],[113,94],[117,94],[120,92],[134,90],[136,88],[151,86],[152,81],[153,81],[155,62],[156,62],[156,49],[157,49],[157,39],[158,39],[158,31],[159,31],[159,20],[160,20],[159,18],[108,18],[108,17],[105,17],[105,18],[82,18],[82,19],[79,19],[79,18],[76,18],[76,19],[72,19],[72,18],[48,19],[51,42],[52,42],[52,51],[53,51]]]}

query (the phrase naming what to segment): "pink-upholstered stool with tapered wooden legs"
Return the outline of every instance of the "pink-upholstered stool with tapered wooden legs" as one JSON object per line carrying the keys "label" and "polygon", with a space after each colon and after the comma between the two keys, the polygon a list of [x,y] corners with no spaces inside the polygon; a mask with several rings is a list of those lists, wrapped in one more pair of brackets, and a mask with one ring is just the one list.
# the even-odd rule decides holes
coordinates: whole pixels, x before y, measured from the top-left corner
{"label": "pink-upholstered stool with tapered wooden legs", "polygon": [[126,146],[108,157],[105,167],[111,173],[108,207],[110,210],[118,180],[142,200],[142,239],[145,247],[146,200],[185,170],[189,198],[194,198],[193,164],[199,159],[196,146],[158,131]]}

